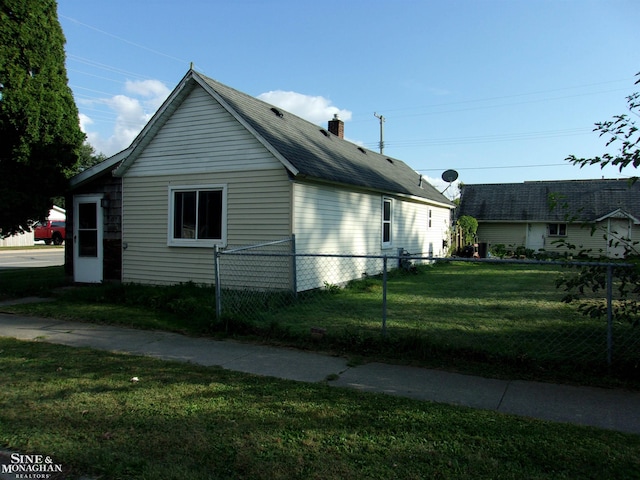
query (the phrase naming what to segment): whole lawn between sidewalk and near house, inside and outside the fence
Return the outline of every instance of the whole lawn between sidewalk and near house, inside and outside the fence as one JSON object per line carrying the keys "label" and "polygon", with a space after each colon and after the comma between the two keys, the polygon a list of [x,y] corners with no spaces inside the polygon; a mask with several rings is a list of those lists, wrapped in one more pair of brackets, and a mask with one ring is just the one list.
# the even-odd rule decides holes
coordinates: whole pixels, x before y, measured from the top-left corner
{"label": "whole lawn between sidewalk and near house, inside and outside the fence", "polygon": [[[640,329],[616,322],[609,367],[606,323],[561,302],[555,280],[567,272],[557,265],[486,263],[391,272],[385,335],[378,277],[295,299],[223,291],[221,321],[215,316],[214,289],[193,284],[80,287],[59,295],[55,303],[11,308],[190,335],[232,335],[485,376],[640,388]],[[314,338],[312,328],[323,329],[324,336]]]}

